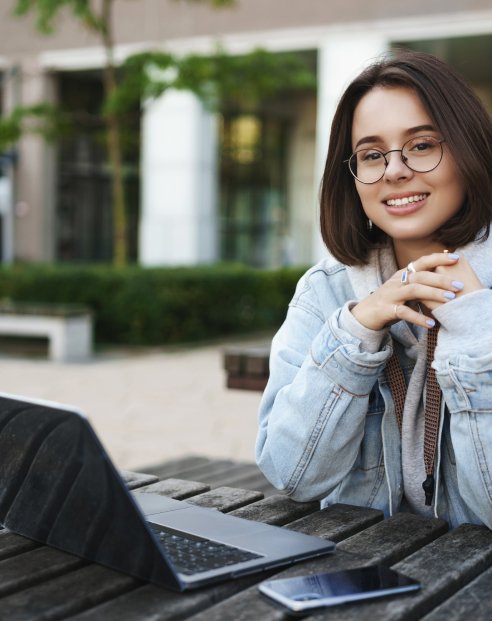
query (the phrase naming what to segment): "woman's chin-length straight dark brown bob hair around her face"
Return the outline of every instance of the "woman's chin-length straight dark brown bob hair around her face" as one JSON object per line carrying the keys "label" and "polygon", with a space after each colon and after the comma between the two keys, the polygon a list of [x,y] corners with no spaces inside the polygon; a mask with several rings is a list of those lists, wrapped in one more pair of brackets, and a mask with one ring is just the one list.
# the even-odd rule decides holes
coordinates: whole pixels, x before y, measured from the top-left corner
{"label": "woman's chin-length straight dark brown bob hair around her face", "polygon": [[365,69],[343,94],[331,126],[321,181],[321,234],[331,254],[345,265],[366,264],[369,252],[388,236],[369,222],[355,179],[344,160],[352,154],[355,108],[373,88],[406,87],[420,98],[441,132],[465,186],[460,210],[434,239],[455,249],[487,239],[492,220],[492,121],[482,103],[451,67],[430,54],[396,51]]}

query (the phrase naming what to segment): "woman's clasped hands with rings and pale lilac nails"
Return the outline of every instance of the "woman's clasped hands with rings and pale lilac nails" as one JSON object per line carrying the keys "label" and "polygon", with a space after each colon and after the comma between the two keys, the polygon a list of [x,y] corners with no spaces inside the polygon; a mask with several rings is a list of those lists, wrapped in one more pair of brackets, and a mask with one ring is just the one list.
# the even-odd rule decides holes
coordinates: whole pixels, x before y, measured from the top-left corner
{"label": "woman's clasped hands with rings and pale lilac nails", "polygon": [[[379,289],[352,308],[354,317],[366,328],[381,330],[404,320],[424,328],[435,324],[420,312],[430,311],[457,295],[481,289],[470,264],[456,254],[436,252],[411,263],[415,271],[398,270]],[[406,272],[406,282],[402,274]]]}

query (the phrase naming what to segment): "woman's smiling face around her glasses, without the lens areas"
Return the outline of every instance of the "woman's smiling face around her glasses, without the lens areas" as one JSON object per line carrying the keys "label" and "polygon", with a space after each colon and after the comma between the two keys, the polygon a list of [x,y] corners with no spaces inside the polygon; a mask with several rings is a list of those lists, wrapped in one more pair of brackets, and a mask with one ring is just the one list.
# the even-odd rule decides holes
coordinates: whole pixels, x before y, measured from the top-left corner
{"label": "woman's smiling face around her glasses, without the lens areas", "polygon": [[[406,87],[376,87],[355,109],[352,149],[401,149],[410,138],[442,139],[418,95]],[[389,153],[382,179],[355,181],[367,217],[398,245],[433,248],[432,236],[461,207],[465,188],[456,163],[443,143],[443,158],[430,172],[414,172],[400,153]],[[424,252],[422,252],[423,254]]]}

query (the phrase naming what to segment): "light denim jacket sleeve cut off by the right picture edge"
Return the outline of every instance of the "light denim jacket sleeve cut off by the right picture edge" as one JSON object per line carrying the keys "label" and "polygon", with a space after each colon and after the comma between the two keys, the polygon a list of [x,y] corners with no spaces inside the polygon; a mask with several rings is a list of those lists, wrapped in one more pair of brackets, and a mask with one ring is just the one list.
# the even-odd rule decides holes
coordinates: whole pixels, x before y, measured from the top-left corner
{"label": "light denim jacket sleeve cut off by the right picture edge", "polygon": [[492,291],[442,305],[434,367],[450,412],[460,496],[492,528]]}

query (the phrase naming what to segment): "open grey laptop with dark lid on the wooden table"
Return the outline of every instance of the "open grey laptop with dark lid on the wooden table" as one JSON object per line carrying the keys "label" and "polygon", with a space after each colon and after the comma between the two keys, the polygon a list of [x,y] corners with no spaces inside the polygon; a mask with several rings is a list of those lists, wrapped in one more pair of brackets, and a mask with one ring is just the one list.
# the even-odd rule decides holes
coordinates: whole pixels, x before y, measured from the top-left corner
{"label": "open grey laptop with dark lid on the wooden table", "polygon": [[129,492],[81,411],[4,393],[0,523],[176,591],[335,548],[331,541],[278,526]]}

